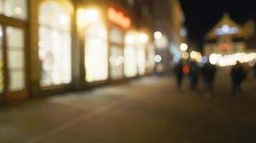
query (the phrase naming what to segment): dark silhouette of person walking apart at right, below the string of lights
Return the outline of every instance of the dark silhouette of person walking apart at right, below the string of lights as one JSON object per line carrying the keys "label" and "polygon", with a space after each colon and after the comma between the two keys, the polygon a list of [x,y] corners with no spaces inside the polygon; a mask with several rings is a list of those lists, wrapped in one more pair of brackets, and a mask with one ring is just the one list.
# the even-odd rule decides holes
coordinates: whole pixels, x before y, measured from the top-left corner
{"label": "dark silhouette of person walking apart at right, below the string of lights", "polygon": [[231,69],[231,78],[232,78],[232,95],[236,96],[238,93],[242,94],[242,82],[246,79],[246,71],[242,67],[242,64],[237,63]]}

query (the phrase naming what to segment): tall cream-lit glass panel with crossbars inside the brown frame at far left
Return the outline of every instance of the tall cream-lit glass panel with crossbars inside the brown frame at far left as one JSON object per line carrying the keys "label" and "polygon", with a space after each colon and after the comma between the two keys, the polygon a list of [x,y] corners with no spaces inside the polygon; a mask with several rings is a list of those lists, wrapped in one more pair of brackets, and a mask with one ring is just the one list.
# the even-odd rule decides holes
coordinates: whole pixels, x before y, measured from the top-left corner
{"label": "tall cream-lit glass panel with crossbars inside the brown frame at far left", "polygon": [[12,92],[20,91],[25,88],[24,31],[19,28],[7,26],[6,39],[9,90]]}

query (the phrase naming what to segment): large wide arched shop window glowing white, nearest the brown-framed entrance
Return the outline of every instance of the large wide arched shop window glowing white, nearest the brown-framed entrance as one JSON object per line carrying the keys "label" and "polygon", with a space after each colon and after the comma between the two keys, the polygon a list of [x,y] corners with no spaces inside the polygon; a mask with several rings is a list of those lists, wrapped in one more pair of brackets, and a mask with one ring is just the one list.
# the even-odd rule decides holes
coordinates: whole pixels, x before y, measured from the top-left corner
{"label": "large wide arched shop window glowing white, nearest the brown-framed entrance", "polygon": [[40,4],[39,56],[42,86],[71,82],[70,16],[60,4]]}

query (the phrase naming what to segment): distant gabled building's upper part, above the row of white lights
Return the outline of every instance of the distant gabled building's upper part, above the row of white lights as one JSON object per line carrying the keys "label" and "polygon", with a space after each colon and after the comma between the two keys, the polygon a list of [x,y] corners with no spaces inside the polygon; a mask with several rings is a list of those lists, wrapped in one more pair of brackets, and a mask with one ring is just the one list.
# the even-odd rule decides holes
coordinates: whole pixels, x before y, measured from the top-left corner
{"label": "distant gabled building's upper part, above the row of white lights", "polygon": [[205,37],[204,54],[236,54],[238,52],[255,51],[250,50],[248,42],[253,42],[255,24],[248,21],[244,25],[237,24],[229,14],[225,13],[221,20],[214,26]]}

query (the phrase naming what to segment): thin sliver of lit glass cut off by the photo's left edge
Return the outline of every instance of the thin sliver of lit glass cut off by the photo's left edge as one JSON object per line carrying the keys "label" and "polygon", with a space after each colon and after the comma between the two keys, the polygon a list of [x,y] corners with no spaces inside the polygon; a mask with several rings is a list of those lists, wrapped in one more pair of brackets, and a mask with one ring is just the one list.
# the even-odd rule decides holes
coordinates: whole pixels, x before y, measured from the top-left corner
{"label": "thin sliver of lit glass cut off by the photo's left edge", "polygon": [[4,92],[3,29],[0,25],[0,93]]}

